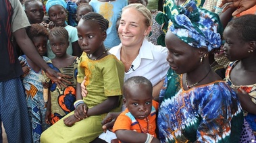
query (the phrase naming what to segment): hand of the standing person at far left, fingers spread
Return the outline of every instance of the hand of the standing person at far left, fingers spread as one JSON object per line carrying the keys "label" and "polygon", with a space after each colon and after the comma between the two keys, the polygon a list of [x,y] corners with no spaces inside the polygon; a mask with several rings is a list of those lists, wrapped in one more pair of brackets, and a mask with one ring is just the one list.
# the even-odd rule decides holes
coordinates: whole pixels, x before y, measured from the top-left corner
{"label": "hand of the standing person at far left, fingers spread", "polygon": [[[53,81],[54,83],[56,83],[56,85],[61,88],[61,85],[63,87],[67,87],[66,84],[71,84],[70,81],[64,79],[64,78],[67,78],[67,79],[71,79],[72,77],[68,76],[68,75],[64,75],[64,74],[61,74],[61,73],[57,73],[57,71],[51,69],[50,67],[47,68],[46,70],[46,75],[47,77],[49,77],[51,79],[51,81]],[[66,83],[66,84],[64,84]]]}

